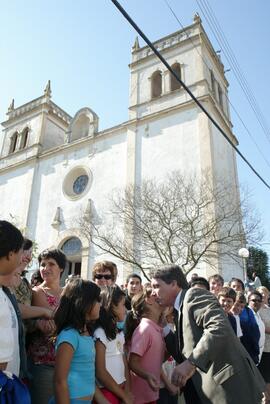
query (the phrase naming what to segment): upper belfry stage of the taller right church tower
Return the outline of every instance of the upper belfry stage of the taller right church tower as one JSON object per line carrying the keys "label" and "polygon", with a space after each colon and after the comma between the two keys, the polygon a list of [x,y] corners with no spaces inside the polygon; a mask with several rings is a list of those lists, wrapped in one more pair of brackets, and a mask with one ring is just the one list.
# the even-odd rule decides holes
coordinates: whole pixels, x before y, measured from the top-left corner
{"label": "upper belfry stage of the taller right church tower", "polygon": [[[193,94],[202,101],[209,97],[222,120],[231,127],[224,66],[204,31],[199,15],[195,14],[190,26],[153,44]],[[129,67],[130,119],[174,106],[191,105],[189,95],[179,82],[148,46],[140,47],[138,38],[132,47]]]}

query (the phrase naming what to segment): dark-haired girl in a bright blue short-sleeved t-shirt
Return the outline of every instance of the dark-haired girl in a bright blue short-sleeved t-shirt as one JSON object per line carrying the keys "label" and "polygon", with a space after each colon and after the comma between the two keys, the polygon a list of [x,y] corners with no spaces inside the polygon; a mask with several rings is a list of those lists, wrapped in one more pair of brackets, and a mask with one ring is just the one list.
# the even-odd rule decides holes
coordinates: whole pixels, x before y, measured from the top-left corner
{"label": "dark-haired girl in a bright blue short-sleeved t-shirt", "polygon": [[89,323],[98,319],[99,310],[100,288],[95,283],[74,279],[66,285],[54,317],[57,333],[55,399],[50,404],[92,402],[95,345],[88,329]]}

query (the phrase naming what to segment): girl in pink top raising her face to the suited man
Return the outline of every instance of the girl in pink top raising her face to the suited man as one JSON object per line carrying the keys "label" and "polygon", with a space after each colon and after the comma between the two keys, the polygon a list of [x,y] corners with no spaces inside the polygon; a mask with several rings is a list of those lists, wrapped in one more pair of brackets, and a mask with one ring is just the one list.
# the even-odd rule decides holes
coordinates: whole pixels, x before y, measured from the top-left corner
{"label": "girl in pink top raising her face to the suited man", "polygon": [[163,308],[151,293],[152,290],[147,288],[132,298],[132,310],[126,321],[134,404],[156,403],[159,397],[165,353],[162,328],[159,326]]}

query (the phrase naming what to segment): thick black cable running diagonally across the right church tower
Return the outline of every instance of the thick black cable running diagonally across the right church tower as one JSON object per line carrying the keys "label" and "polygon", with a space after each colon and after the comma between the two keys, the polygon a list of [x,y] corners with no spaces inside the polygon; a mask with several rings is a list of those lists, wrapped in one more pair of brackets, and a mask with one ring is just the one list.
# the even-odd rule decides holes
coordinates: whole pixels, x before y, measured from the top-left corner
{"label": "thick black cable running diagonally across the right church tower", "polygon": [[111,0],[112,3],[118,8],[121,14],[126,18],[126,20],[133,26],[133,28],[138,32],[141,38],[147,43],[147,45],[152,49],[155,55],[161,60],[161,62],[167,67],[169,72],[175,77],[175,79],[181,84],[181,86],[186,90],[192,100],[198,105],[198,107],[205,113],[205,115],[210,119],[213,125],[221,132],[221,134],[225,137],[227,142],[234,148],[234,150],[239,154],[242,160],[249,166],[249,168],[254,172],[254,174],[264,183],[264,185],[270,190],[270,185],[260,176],[260,174],[255,170],[255,168],[250,164],[250,162],[245,158],[245,156],[238,150],[238,148],[233,144],[231,139],[226,135],[223,129],[218,125],[218,123],[212,118],[212,116],[208,113],[208,111],[204,108],[201,102],[193,95],[190,89],[185,85],[185,83],[178,77],[178,75],[173,71],[168,62],[164,59],[164,57],[160,54],[160,52],[155,48],[152,42],[147,38],[147,36],[142,32],[142,30],[138,27],[138,25],[132,20],[129,14],[125,11],[125,9],[121,6],[121,4],[117,0]]}

